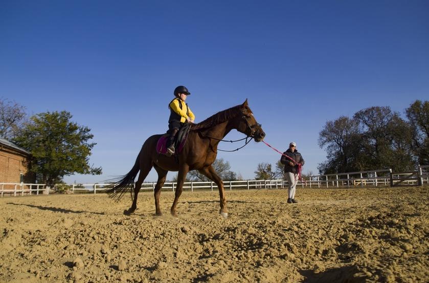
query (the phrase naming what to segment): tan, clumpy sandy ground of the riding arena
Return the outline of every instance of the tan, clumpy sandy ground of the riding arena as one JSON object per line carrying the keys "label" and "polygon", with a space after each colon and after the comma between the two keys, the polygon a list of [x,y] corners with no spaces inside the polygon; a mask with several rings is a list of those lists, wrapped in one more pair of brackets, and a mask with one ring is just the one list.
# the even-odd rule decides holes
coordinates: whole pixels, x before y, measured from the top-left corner
{"label": "tan, clumpy sandy ground of the riding arena", "polygon": [[0,199],[0,282],[428,282],[429,188]]}

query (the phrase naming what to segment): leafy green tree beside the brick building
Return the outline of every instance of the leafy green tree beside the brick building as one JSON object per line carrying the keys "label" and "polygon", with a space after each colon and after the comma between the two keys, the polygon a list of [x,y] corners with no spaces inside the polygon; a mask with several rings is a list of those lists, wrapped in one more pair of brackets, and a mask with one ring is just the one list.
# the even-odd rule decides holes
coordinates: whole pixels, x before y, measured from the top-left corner
{"label": "leafy green tree beside the brick building", "polygon": [[96,143],[90,128],[70,121],[69,112],[46,112],[32,116],[14,142],[33,156],[30,170],[39,182],[53,185],[73,173],[101,174],[101,167],[88,164]]}

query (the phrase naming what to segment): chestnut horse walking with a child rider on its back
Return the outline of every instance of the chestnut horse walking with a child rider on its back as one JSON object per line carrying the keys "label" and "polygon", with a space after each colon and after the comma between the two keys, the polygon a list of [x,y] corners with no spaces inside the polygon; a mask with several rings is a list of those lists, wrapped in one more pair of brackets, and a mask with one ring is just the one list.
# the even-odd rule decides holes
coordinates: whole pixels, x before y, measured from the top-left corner
{"label": "chestnut horse walking with a child rider on its back", "polygon": [[140,171],[134,190],[130,190],[132,205],[128,210],[124,211],[125,214],[133,213],[137,209],[137,195],[142,183],[149,171],[154,167],[158,173],[158,181],[154,189],[155,213],[156,215],[162,215],[160,209],[161,188],[166,180],[167,172],[178,171],[175,198],[170,210],[171,215],[177,216],[176,206],[180,194],[182,194],[186,175],[190,170],[198,170],[216,183],[220,197],[219,213],[225,218],[228,217],[223,183],[213,169],[212,164],[216,159],[219,141],[232,129],[254,138],[257,142],[262,141],[265,136],[261,125],[256,122],[246,99],[243,104],[218,112],[198,124],[192,124],[183,150],[176,157],[168,157],[156,152],[156,143],[162,135],[149,137],[143,144],[132,169],[127,175],[120,177],[122,178],[121,180],[112,184],[106,192],[111,198],[119,200],[129,188],[132,188],[134,179]]}

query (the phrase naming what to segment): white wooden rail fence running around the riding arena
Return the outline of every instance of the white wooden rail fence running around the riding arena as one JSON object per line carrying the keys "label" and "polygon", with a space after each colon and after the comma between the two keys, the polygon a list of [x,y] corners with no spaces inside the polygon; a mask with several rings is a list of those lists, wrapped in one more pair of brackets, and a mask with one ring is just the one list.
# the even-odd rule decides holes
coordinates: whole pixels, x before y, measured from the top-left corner
{"label": "white wooden rail fence running around the riding arena", "polygon": [[[349,173],[337,173],[307,177],[308,180],[299,181],[297,186],[308,188],[350,188],[364,186],[396,186],[396,185],[424,185],[429,184],[429,165],[418,166],[417,171],[392,173],[392,169],[379,169],[371,171],[359,171]],[[156,183],[143,183],[142,190],[154,190]],[[64,185],[64,184],[61,184]],[[66,184],[74,192],[97,192],[103,191],[109,184]],[[174,192],[176,182],[164,183],[163,189],[171,189]],[[273,189],[287,187],[285,180],[245,180],[224,181],[224,188],[233,189]],[[45,184],[24,183],[0,183],[0,193],[13,194],[15,197],[25,194],[49,193]],[[216,189],[214,182],[185,182],[183,189],[190,191],[202,191]]]}

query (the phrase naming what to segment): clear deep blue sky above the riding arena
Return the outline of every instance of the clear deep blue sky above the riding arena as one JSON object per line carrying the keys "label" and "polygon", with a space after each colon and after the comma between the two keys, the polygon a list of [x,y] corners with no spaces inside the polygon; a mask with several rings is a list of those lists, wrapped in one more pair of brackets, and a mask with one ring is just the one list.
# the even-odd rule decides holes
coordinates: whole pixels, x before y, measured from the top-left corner
{"label": "clear deep blue sky above the riding arena", "polygon": [[[2,1],[0,97],[92,129],[103,175],[66,182],[127,173],[180,84],[196,122],[249,99],[265,141],[295,141],[317,173],[326,121],[428,100],[428,50],[427,1]],[[280,155],[252,142],[218,158],[253,179]]]}

